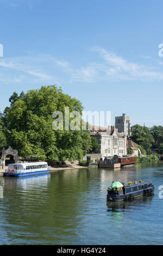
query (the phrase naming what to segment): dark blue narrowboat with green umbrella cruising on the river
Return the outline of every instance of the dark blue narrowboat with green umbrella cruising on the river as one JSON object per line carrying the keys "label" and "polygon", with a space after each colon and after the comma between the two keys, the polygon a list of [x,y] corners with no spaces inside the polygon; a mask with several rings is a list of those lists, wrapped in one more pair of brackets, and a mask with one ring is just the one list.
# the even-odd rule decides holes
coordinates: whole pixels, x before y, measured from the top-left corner
{"label": "dark blue narrowboat with green umbrella cruising on the river", "polygon": [[154,192],[154,185],[152,181],[128,182],[127,185],[121,182],[112,182],[111,188],[108,188],[107,201],[122,201],[143,196],[145,194],[152,194]]}

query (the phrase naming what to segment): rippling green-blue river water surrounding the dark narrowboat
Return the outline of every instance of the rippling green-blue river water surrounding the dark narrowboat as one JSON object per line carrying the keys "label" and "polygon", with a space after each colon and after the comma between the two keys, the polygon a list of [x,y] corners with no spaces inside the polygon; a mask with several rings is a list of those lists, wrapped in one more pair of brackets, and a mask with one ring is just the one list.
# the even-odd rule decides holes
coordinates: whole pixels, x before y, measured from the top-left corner
{"label": "rippling green-blue river water surrounding the dark narrowboat", "polygon": [[[153,196],[106,203],[112,181],[153,181]],[[1,245],[162,245],[163,163],[0,178]],[[160,192],[160,193],[159,193]],[[163,193],[162,193],[163,196]]]}

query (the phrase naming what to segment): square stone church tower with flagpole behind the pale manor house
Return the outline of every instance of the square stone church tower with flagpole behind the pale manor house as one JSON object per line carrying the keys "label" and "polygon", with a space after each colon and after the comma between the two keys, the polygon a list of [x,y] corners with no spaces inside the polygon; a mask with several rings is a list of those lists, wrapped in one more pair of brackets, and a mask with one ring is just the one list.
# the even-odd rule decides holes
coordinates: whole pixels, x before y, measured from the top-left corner
{"label": "square stone church tower with flagpole behind the pale manor house", "polygon": [[130,137],[131,136],[131,123],[130,118],[126,114],[122,114],[121,117],[115,117],[115,127],[121,135]]}

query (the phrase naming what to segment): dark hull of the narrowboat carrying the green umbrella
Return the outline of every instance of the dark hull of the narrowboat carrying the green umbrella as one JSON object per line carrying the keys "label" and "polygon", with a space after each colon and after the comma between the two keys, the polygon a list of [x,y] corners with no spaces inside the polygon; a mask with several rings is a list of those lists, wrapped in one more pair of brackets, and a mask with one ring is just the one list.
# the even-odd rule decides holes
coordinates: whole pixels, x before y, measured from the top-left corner
{"label": "dark hull of the narrowboat carrying the green umbrella", "polygon": [[130,192],[127,194],[107,194],[107,201],[123,201],[127,199],[133,199],[135,197],[140,197],[145,194],[152,194],[154,192],[154,187],[148,187],[139,191]]}

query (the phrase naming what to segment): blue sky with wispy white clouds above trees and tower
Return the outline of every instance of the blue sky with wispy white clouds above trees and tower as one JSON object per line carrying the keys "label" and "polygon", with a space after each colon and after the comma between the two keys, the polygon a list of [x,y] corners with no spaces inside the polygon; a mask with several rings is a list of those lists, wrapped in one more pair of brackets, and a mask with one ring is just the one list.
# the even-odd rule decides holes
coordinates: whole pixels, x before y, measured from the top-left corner
{"label": "blue sky with wispy white clouds above trees and tower", "polygon": [[57,84],[85,111],[111,111],[112,125],[122,113],[131,125],[163,125],[162,8],[161,0],[0,0],[0,112],[13,92]]}

